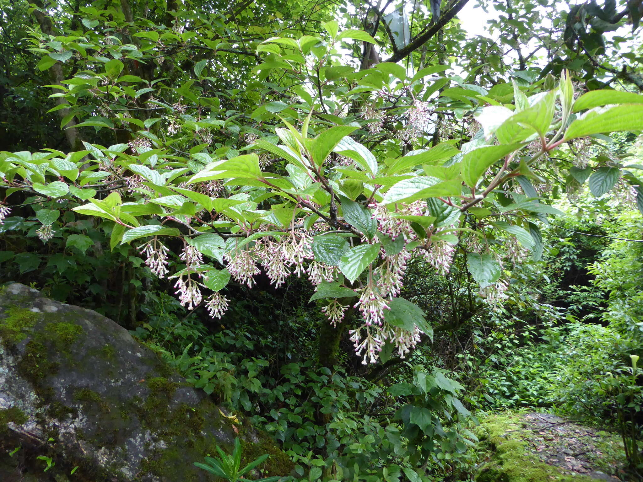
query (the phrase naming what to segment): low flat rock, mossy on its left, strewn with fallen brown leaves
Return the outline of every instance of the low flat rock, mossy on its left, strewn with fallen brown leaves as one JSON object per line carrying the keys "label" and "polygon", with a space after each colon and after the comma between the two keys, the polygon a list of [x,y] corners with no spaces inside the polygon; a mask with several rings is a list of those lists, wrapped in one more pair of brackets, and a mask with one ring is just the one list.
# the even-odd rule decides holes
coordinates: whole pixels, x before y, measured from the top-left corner
{"label": "low flat rock, mossy on its left, strewn with fallen brown leaves", "polygon": [[622,467],[617,434],[555,415],[505,413],[483,419],[478,437],[488,452],[480,482],[633,481]]}

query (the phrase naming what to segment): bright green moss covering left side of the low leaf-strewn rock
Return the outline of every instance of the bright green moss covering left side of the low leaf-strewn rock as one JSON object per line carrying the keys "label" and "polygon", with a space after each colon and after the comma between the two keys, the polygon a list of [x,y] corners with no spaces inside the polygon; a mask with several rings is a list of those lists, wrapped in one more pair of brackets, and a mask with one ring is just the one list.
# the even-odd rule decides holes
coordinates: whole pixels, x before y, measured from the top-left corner
{"label": "bright green moss covering left side of the low leaf-strewn rock", "polygon": [[476,474],[476,482],[589,482],[586,476],[563,474],[529,451],[533,433],[523,430],[515,414],[496,415],[478,427],[478,439],[491,451],[491,460]]}

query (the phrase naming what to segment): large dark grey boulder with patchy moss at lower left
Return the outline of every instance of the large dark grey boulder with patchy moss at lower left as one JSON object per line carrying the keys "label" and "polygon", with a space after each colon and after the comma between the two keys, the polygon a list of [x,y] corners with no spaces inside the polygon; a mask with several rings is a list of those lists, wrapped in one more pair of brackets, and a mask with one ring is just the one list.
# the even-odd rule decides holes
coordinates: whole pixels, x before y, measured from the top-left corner
{"label": "large dark grey boulder with patchy moss at lower left", "polygon": [[[30,462],[42,480],[64,481],[77,467],[78,481],[206,481],[193,462],[216,445],[230,447],[237,433],[246,454],[271,453],[264,467],[271,475],[291,470],[264,434],[247,421],[237,427],[94,311],[8,285],[0,289],[0,341],[0,480]],[[47,458],[55,465],[43,472]]]}

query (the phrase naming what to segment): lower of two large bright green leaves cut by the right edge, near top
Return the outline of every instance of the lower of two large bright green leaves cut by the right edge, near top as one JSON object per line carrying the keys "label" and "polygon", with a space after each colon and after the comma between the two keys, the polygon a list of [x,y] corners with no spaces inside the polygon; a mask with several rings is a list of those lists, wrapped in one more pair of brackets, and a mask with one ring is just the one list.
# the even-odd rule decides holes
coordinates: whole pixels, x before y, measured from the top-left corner
{"label": "lower of two large bright green leaves cut by the right edge, near top", "polygon": [[643,104],[617,105],[607,110],[597,107],[588,111],[570,124],[563,140],[621,130],[643,130]]}

